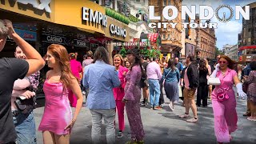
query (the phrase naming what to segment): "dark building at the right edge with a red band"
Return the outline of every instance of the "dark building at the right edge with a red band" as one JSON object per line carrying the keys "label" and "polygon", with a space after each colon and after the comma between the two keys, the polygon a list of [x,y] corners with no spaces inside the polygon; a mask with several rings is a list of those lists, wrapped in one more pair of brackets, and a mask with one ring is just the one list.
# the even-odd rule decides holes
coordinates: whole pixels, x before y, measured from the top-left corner
{"label": "dark building at the right edge with a red band", "polygon": [[250,62],[256,54],[256,2],[250,3],[250,19],[242,19],[241,42],[239,42],[239,61]]}

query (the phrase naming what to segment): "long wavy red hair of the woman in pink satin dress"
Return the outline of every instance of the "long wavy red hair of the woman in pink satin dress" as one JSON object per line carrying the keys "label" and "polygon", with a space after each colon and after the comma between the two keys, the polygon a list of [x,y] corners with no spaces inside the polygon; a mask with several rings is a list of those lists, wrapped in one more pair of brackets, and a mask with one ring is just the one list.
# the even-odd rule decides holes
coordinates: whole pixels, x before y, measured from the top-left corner
{"label": "long wavy red hair of the woman in pink satin dress", "polygon": [[60,82],[62,82],[64,88],[63,90],[65,90],[69,87],[71,80],[75,78],[70,69],[69,54],[64,46],[58,44],[51,44],[48,46],[47,50],[54,55],[56,61],[61,67],[62,74]]}

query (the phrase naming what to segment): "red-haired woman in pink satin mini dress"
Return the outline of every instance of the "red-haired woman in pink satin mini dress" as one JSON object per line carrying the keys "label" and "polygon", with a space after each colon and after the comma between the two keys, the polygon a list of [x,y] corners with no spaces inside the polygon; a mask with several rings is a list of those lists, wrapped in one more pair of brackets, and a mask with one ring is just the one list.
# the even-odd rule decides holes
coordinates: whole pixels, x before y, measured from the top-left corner
{"label": "red-haired woman in pink satin mini dress", "polygon": [[[42,131],[44,143],[67,144],[70,142],[71,129],[82,107],[82,92],[78,80],[71,73],[66,48],[52,44],[48,46],[46,55],[46,62],[52,70],[47,72],[43,85],[46,105],[38,130]],[[73,118],[68,89],[78,97]]]}

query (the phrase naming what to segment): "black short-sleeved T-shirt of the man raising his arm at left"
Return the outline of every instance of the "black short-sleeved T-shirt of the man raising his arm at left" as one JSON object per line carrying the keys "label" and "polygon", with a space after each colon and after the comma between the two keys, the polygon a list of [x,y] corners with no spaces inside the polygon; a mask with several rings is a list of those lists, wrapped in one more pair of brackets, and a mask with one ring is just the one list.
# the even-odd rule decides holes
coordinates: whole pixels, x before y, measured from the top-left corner
{"label": "black short-sleeved T-shirt of the man raising his arm at left", "polygon": [[17,134],[10,110],[10,98],[14,81],[22,79],[29,70],[29,64],[18,58],[0,59],[0,143],[15,142]]}

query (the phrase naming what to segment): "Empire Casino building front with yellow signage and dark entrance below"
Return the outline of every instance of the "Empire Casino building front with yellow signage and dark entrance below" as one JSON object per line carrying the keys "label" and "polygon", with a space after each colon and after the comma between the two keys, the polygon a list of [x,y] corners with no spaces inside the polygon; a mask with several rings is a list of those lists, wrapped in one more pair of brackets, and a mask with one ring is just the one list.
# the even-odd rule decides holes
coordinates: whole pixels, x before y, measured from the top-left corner
{"label": "Empire Casino building front with yellow signage and dark entrance below", "polygon": [[[95,2],[50,0],[43,10],[41,4],[41,1],[0,1],[0,19],[10,19],[17,33],[42,56],[50,44],[57,43],[69,53],[78,53],[78,61],[82,62],[88,50],[94,52],[98,46],[104,46],[111,52],[112,42],[130,40],[128,23],[110,17],[106,7]],[[14,50],[14,41],[7,39],[0,57],[14,57]]]}

